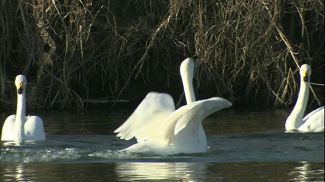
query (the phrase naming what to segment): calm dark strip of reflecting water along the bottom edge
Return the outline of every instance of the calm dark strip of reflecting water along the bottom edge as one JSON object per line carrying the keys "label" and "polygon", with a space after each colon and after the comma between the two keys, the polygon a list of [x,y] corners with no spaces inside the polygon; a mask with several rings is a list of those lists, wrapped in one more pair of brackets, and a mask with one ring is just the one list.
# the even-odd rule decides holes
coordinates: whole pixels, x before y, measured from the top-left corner
{"label": "calm dark strip of reflecting water along the bottom edge", "polygon": [[324,181],[323,162],[1,165],[1,181]]}

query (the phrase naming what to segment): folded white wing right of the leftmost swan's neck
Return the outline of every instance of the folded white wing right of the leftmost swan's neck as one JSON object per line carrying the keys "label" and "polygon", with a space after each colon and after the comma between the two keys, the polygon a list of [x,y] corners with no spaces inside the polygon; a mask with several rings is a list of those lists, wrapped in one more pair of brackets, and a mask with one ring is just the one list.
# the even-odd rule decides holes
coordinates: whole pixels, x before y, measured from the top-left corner
{"label": "folded white wing right of the leftmost swan's neck", "polygon": [[43,120],[39,116],[27,116],[24,124],[26,141],[46,140]]}

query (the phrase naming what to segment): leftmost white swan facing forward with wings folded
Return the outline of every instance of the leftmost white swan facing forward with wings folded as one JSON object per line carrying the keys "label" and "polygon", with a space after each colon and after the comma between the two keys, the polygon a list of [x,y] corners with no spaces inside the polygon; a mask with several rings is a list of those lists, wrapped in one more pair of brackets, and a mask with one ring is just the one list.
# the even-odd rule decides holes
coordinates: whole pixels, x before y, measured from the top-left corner
{"label": "leftmost white swan facing forward with wings folded", "polygon": [[16,76],[17,112],[7,117],[2,128],[2,141],[43,141],[45,132],[43,121],[39,116],[25,116],[26,84],[24,75]]}

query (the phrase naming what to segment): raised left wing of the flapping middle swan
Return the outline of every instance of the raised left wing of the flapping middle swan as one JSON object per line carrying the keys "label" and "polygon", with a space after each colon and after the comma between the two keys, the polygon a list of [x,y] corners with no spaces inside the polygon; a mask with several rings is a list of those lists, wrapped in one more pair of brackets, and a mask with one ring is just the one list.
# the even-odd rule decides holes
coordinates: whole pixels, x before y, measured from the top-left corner
{"label": "raised left wing of the flapping middle swan", "polygon": [[135,137],[138,142],[160,138],[159,126],[174,111],[174,100],[169,94],[150,92],[114,132],[120,139],[130,140]]}

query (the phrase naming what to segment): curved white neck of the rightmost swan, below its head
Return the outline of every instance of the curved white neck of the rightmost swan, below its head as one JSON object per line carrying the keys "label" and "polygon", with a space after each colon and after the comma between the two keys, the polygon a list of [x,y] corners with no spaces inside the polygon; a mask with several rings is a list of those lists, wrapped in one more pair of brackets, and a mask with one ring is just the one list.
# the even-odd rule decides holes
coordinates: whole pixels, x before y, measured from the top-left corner
{"label": "curved white neck of the rightmost swan, below its head", "polygon": [[299,95],[296,105],[291,114],[288,116],[285,123],[286,130],[298,129],[299,126],[302,124],[302,119],[308,102],[308,95],[309,82],[303,81],[303,79],[301,79]]}

